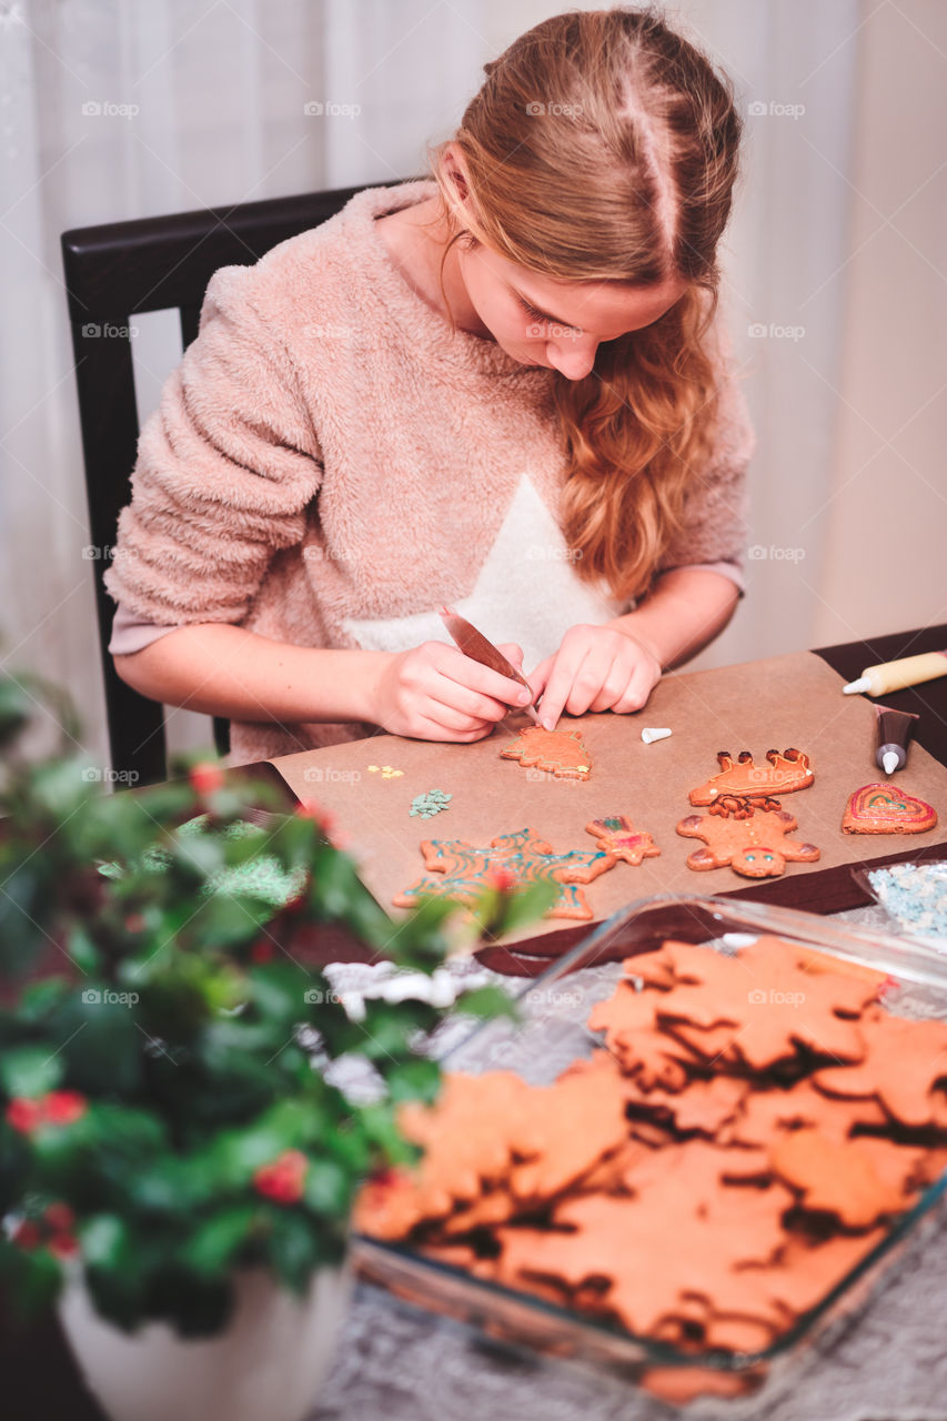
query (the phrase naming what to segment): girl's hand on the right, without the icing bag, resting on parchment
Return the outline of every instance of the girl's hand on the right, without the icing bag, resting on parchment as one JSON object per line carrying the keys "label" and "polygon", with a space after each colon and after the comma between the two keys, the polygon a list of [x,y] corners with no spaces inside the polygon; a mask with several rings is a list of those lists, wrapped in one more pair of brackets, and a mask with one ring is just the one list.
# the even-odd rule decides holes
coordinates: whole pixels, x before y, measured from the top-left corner
{"label": "girl's hand on the right, without the icing bag, resting on parchment", "polygon": [[559,651],[528,678],[543,699],[539,718],[552,729],[563,710],[640,710],[661,679],[661,664],[647,647],[614,627],[570,627]]}

